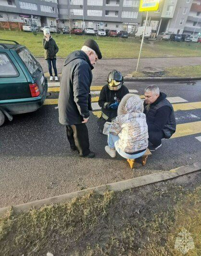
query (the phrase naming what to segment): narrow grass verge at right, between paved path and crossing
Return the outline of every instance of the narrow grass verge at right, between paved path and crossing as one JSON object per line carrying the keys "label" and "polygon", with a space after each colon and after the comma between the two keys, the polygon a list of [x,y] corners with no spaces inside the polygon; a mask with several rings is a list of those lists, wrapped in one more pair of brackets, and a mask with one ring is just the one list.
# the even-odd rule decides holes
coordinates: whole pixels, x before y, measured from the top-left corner
{"label": "narrow grass verge at right, between paved path and crossing", "polygon": [[[134,71],[131,75],[133,77],[153,77],[151,73],[141,71]],[[164,69],[164,74],[160,77],[201,77],[201,65],[168,67]]]}

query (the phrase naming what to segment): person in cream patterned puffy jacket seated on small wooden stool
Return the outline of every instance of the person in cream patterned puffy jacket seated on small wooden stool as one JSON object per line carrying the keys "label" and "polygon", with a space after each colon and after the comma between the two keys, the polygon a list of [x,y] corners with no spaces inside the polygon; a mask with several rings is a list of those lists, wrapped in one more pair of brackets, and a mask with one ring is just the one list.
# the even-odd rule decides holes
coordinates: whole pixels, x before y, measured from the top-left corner
{"label": "person in cream patterned puffy jacket seated on small wooden stool", "polygon": [[148,147],[148,127],[143,114],[143,102],[138,95],[126,94],[121,100],[117,117],[108,128],[108,146],[105,151],[116,156],[135,159],[142,156]]}

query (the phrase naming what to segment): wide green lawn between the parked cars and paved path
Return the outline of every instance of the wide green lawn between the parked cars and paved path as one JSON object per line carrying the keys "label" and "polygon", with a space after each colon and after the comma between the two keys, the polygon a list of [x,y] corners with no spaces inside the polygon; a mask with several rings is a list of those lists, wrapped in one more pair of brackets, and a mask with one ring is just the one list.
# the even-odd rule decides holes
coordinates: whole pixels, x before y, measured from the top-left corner
{"label": "wide green lawn between the parked cars and paved path", "polygon": [[[94,38],[98,41],[103,58],[138,57],[141,41],[135,38],[97,38],[96,36],[78,36],[53,34],[59,47],[58,57],[66,57],[71,51],[79,50],[84,41]],[[42,32],[34,35],[24,31],[0,30],[1,39],[10,39],[25,45],[35,56],[43,56]],[[201,44],[188,42],[150,41],[145,40],[141,57],[159,56],[201,56]]]}

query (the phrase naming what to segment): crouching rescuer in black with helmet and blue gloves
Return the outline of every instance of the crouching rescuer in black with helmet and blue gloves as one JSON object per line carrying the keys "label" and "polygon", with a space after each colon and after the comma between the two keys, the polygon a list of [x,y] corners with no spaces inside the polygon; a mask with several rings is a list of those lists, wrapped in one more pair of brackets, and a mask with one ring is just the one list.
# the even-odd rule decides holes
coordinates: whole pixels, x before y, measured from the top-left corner
{"label": "crouching rescuer in black with helmet and blue gloves", "polygon": [[98,120],[99,132],[103,132],[106,122],[112,122],[117,116],[117,108],[122,98],[129,93],[126,86],[123,85],[124,78],[122,74],[113,70],[108,75],[108,84],[104,85],[100,91],[99,106],[102,113]]}

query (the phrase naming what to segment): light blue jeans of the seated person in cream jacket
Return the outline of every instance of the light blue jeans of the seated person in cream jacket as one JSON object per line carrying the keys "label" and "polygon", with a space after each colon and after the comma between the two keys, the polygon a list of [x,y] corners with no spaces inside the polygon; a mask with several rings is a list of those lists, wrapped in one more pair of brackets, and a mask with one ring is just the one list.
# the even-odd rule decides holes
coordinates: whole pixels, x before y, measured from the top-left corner
{"label": "light blue jeans of the seated person in cream jacket", "polygon": [[111,133],[108,132],[108,146],[110,148],[115,148],[116,151],[124,158],[126,159],[136,159],[140,156],[142,156],[145,152],[141,152],[141,153],[138,153],[138,154],[126,154],[126,152],[124,152],[122,149],[119,148],[119,145],[118,145],[118,141],[119,141],[119,136],[118,135],[113,135]]}

